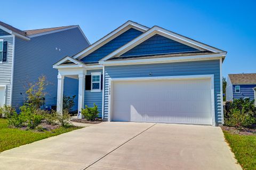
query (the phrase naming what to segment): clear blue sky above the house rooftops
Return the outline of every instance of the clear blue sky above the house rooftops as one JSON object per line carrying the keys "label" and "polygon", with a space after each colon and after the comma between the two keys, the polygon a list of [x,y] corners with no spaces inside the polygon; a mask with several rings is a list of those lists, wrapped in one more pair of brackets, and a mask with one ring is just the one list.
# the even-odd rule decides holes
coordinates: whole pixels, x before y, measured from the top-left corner
{"label": "clear blue sky above the house rooftops", "polygon": [[[3,1],[0,20],[21,30],[79,25],[91,43],[127,20],[228,52],[223,76],[256,72],[256,1]],[[5,6],[5,7],[3,7]]]}

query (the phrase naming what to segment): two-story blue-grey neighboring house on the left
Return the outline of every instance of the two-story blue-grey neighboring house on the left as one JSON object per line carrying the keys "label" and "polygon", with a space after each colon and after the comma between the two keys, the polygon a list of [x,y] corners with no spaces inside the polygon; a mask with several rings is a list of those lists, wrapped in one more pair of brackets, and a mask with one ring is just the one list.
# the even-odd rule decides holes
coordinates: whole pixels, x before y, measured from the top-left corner
{"label": "two-story blue-grey neighboring house on the left", "polygon": [[[44,75],[50,83],[44,106],[56,106],[58,71],[52,64],[89,45],[79,26],[22,31],[0,22],[0,105],[18,109],[26,99],[24,86]],[[76,80],[68,79],[66,85],[66,94],[77,94]]]}

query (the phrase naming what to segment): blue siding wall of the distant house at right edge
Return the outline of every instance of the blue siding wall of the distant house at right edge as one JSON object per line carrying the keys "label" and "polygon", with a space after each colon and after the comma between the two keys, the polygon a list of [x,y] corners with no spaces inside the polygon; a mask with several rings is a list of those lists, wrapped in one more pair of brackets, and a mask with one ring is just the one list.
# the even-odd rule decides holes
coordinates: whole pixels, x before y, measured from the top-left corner
{"label": "blue siding wall of the distant house at right edge", "polygon": [[233,85],[233,99],[250,98],[250,100],[254,100],[254,90],[252,88],[256,87],[256,84],[254,84],[254,85],[239,85],[240,93],[236,93],[235,86],[236,85]]}

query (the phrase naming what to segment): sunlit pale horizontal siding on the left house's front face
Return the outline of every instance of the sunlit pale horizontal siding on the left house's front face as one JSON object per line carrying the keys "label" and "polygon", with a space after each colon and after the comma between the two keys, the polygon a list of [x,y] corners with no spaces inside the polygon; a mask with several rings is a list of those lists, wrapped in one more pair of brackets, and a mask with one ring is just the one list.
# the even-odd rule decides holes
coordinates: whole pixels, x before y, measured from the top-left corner
{"label": "sunlit pale horizontal siding on the left house's front face", "polygon": [[[0,30],[1,31],[1,30]],[[11,82],[13,63],[13,36],[1,38],[7,42],[7,61],[0,63],[0,85],[6,85],[5,104],[11,104]]]}

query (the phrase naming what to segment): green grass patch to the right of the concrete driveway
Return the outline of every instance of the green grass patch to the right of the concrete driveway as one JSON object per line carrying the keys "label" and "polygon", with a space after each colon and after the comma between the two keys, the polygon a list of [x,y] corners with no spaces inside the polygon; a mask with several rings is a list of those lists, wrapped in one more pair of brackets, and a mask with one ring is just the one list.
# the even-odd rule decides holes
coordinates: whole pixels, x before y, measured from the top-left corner
{"label": "green grass patch to the right of the concrete driveway", "polygon": [[256,169],[256,135],[239,135],[223,131],[238,163],[246,170]]}

